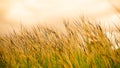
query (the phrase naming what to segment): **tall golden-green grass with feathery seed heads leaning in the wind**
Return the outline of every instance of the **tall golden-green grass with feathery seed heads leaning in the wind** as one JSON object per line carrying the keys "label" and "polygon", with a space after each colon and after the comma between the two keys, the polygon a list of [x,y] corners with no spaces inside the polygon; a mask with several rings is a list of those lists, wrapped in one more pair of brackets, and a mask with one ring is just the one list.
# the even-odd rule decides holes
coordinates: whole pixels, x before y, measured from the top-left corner
{"label": "tall golden-green grass with feathery seed heads leaning in the wind", "polygon": [[68,23],[65,33],[38,25],[0,37],[0,68],[120,68],[120,49],[100,25]]}

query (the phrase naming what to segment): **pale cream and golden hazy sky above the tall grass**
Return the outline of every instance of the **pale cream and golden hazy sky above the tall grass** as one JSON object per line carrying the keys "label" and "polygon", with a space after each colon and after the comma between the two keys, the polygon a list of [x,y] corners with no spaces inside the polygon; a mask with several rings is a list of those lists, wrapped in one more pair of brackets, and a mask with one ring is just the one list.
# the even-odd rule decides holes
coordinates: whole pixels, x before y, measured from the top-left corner
{"label": "pale cream and golden hazy sky above the tall grass", "polygon": [[[118,0],[111,2],[119,6]],[[25,25],[60,25],[58,21],[79,15],[105,22],[118,20],[108,0],[0,0],[0,29],[3,30],[9,24],[17,26],[20,21]]]}

